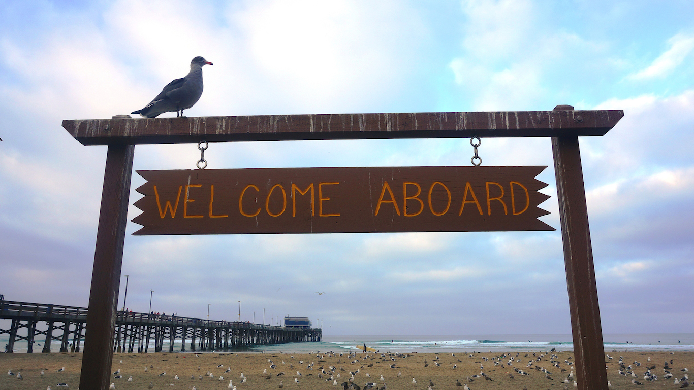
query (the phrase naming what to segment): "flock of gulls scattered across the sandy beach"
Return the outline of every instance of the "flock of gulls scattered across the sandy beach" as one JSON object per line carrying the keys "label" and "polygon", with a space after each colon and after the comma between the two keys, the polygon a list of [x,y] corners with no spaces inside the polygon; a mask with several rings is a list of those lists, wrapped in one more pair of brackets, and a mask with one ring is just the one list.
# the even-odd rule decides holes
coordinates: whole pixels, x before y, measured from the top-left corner
{"label": "flock of gulls scattered across the sandy beach", "polygon": [[[491,352],[491,351],[490,351]],[[479,353],[471,353],[471,354],[466,354],[469,358],[475,358],[476,360],[480,360],[480,373],[473,374],[473,375],[467,375],[466,376],[466,381],[465,383],[460,382],[459,379],[455,380],[455,386],[456,387],[462,387],[462,390],[472,390],[471,387],[468,387],[468,383],[472,385],[473,382],[477,380],[482,380],[482,381],[493,381],[493,378],[491,378],[487,373],[484,372],[484,365],[486,364],[487,366],[502,366],[504,369],[510,369],[511,366],[514,367],[514,373],[509,373],[509,379],[514,380],[516,378],[516,375],[523,377],[524,375],[533,375],[537,373],[541,373],[540,375],[545,375],[545,378],[547,380],[552,380],[554,381],[555,379],[552,378],[551,375],[555,375],[555,378],[557,376],[561,377],[566,375],[566,378],[564,378],[564,390],[568,390],[569,386],[573,382],[573,387],[577,387],[577,382],[575,381],[574,378],[574,373],[573,373],[573,362],[571,362],[571,357],[568,357],[567,359],[564,360],[564,362],[560,362],[559,356],[556,355],[554,350],[552,352],[545,352],[545,353],[525,353],[523,356],[521,356],[521,353],[503,353],[501,355],[496,355],[494,357],[488,358],[484,355],[481,355]],[[281,354],[281,352],[280,352]],[[308,355],[313,355],[313,353],[309,353]],[[455,353],[451,354],[452,357],[455,357]],[[194,354],[194,356],[198,357],[197,354]],[[238,355],[237,355],[238,356]],[[344,358],[346,359],[346,363],[349,362],[351,364],[359,364],[361,361],[362,363],[359,364],[360,367],[359,369],[355,369],[353,371],[348,371],[347,369],[344,368],[344,366],[334,366],[334,365],[328,365],[325,367],[325,365],[318,366],[314,369],[314,362],[310,363],[305,363],[303,360],[298,361],[298,366],[295,368],[294,364],[289,364],[288,367],[291,370],[296,369],[296,375],[287,375],[285,374],[284,371],[281,371],[280,373],[269,373],[268,369],[264,369],[262,372],[263,378],[265,380],[271,380],[273,376],[275,378],[280,378],[284,375],[289,376],[294,376],[294,382],[295,384],[300,384],[301,380],[300,378],[303,378],[304,375],[301,373],[301,369],[303,369],[305,365],[305,369],[308,371],[320,371],[320,373],[316,374],[317,378],[323,380],[324,382],[327,382],[328,384],[331,384],[332,386],[337,387],[338,386],[338,380],[341,378],[341,375],[344,373],[344,375],[349,375],[348,380],[346,382],[342,382],[339,384],[343,388],[343,390],[387,390],[386,387],[386,380],[384,378],[383,374],[380,374],[380,378],[378,382],[366,382],[363,387],[359,386],[357,384],[357,380],[355,377],[359,375],[359,373],[364,369],[364,371],[367,371],[364,376],[366,378],[371,379],[371,374],[368,372],[369,368],[374,366],[374,363],[366,364],[367,360],[380,360],[380,362],[386,362],[387,366],[389,366],[391,369],[396,369],[397,364],[395,363],[398,362],[398,360],[404,360],[404,359],[411,359],[412,357],[415,357],[416,355],[409,355],[409,354],[404,354],[404,353],[380,353],[380,351],[376,351],[375,353],[366,353],[364,355],[357,355],[357,353],[332,353],[328,352],[325,354],[321,353],[316,353],[314,357],[318,360],[319,363],[324,362],[323,358],[324,357],[339,357],[339,360],[337,360],[337,364],[341,362],[341,360]],[[607,357],[607,364],[605,366],[606,369],[610,369],[609,364],[612,363],[612,360],[614,360],[613,356],[610,356],[609,354],[606,355]],[[527,359],[526,359],[527,358]],[[294,359],[294,355],[291,355],[291,359]],[[525,362],[524,362],[525,360]],[[391,363],[392,362],[392,363]],[[457,362],[462,362],[459,358],[457,358]],[[448,365],[452,367],[452,369],[456,370],[457,369],[457,362],[450,362]],[[123,360],[120,361],[120,364],[123,363]],[[271,359],[268,359],[269,363],[269,369],[277,369],[277,364],[273,362]],[[439,355],[435,355],[435,358],[433,360],[434,366],[441,366],[441,360],[439,359]],[[524,369],[519,369],[518,366],[521,366],[522,364],[525,363],[524,369],[527,369],[525,371]],[[282,360],[283,365],[285,364],[285,361]],[[423,361],[424,368],[429,367],[429,362],[425,359]],[[632,384],[639,386],[643,385],[644,383],[641,382],[641,378],[643,378],[643,381],[648,381],[648,382],[654,382],[661,380],[659,371],[662,370],[662,379],[663,380],[672,380],[674,378],[673,383],[674,384],[679,384],[679,389],[686,389],[689,387],[689,377],[688,377],[688,369],[686,367],[684,368],[677,368],[675,369],[674,367],[674,360],[670,360],[669,362],[664,362],[663,366],[661,369],[659,369],[655,364],[652,364],[651,358],[648,357],[648,360],[645,364],[641,364],[641,362],[638,362],[634,360],[632,363],[627,363],[624,361],[623,357],[620,356],[619,359],[616,361],[616,364],[618,365],[617,371],[619,375],[623,375],[629,382]],[[562,365],[566,368],[562,368]],[[554,371],[555,373],[552,373],[550,369],[547,367],[551,367],[551,370]],[[144,367],[144,372],[149,372],[150,369],[154,369],[153,365],[150,365],[149,367]],[[223,375],[230,375],[231,372],[231,366],[227,366],[226,369],[224,369],[224,364],[219,364],[217,366],[217,369],[223,370],[219,373],[219,375],[214,375],[211,371],[208,371],[205,373],[204,377],[209,378],[210,380],[218,380],[219,382],[225,382],[226,380],[224,379]],[[559,371],[557,371],[557,369]],[[201,370],[201,366],[198,366],[198,371]],[[491,371],[496,371],[493,369],[490,369]],[[529,371],[529,372],[528,372]],[[534,372],[533,372],[534,371]],[[568,374],[566,374],[566,371],[569,371]],[[643,371],[643,372],[642,372]],[[675,375],[677,371],[681,371],[682,374],[679,375],[684,375],[682,378],[677,378],[679,375]],[[62,373],[65,372],[65,367],[62,367],[60,369],[57,369],[56,372]],[[8,375],[14,375],[18,380],[23,380],[24,377],[22,376],[21,372],[17,372],[16,374],[13,373],[12,371],[8,371]],[[42,370],[40,373],[41,376],[44,375],[44,371]],[[110,385],[110,390],[115,390],[116,386],[115,383],[118,380],[121,380],[124,378],[124,375],[121,375],[121,370],[118,369],[115,371],[113,374],[113,379],[115,380],[114,382],[111,383]],[[166,376],[167,373],[166,371],[158,374],[160,377]],[[313,373],[307,373],[306,375],[312,376],[314,375]],[[402,376],[402,371],[398,371],[398,378]],[[283,378],[282,378],[283,379]],[[174,376],[174,380],[180,380],[178,375]],[[190,375],[190,380],[198,380],[202,381],[203,380],[203,375]],[[239,384],[245,384],[248,381],[248,378],[244,375],[244,373],[241,373],[239,375]],[[133,376],[128,375],[128,379],[126,382],[133,382]],[[412,384],[416,386],[417,381],[415,378],[412,378]],[[611,382],[607,381],[608,387],[612,387]],[[171,384],[173,386],[173,384]],[[428,384],[428,390],[434,390],[435,388],[434,382],[430,379],[429,384]],[[56,387],[58,388],[69,388],[67,383],[58,383],[56,384]],[[149,385],[147,386],[148,389],[153,389],[154,384],[153,382],[149,382]],[[284,380],[280,380],[278,384],[278,388],[282,389],[284,387]],[[228,390],[237,390],[237,387],[233,384],[232,380],[229,380],[229,384],[227,385]],[[51,387],[49,386],[46,390],[52,390]],[[192,387],[192,390],[196,390],[195,386]],[[527,387],[524,387],[524,390],[527,390]]]}

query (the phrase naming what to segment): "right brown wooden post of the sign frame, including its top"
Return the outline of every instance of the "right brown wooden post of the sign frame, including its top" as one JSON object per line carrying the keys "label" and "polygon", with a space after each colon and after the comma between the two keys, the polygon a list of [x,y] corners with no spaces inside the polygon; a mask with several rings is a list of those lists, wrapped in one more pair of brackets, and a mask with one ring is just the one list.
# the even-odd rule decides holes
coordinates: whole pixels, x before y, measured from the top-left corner
{"label": "right brown wooden post of the sign frame, including its top", "polygon": [[[555,110],[573,110],[557,106]],[[579,390],[607,390],[602,326],[577,136],[552,137],[561,239]]]}

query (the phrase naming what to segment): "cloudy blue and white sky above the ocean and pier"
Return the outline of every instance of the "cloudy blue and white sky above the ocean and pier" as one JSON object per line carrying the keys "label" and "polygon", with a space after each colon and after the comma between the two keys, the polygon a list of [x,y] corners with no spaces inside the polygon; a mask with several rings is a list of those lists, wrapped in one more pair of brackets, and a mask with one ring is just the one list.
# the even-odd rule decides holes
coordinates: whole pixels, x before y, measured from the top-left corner
{"label": "cloudy blue and white sky above the ocean and pier", "polygon": [[[106,147],[61,121],[140,109],[202,55],[214,65],[187,116],[623,109],[606,135],[580,139],[602,329],[691,333],[691,15],[684,0],[3,1],[0,294],[87,305]],[[541,220],[557,231],[131,236],[128,222],[125,305],[234,320],[240,301],[243,321],[310,317],[323,335],[570,333],[550,139],[482,139],[479,153],[485,166],[549,166]],[[472,156],[469,139],[205,152],[208,168]],[[133,170],[198,158],[193,143],[137,145]],[[142,184],[133,174],[128,220]]]}

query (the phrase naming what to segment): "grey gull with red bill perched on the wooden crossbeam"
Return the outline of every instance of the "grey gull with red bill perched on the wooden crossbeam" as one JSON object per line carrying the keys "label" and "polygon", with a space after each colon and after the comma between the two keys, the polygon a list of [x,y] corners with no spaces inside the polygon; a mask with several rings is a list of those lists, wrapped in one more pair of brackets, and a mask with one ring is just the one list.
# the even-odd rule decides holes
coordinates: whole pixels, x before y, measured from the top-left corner
{"label": "grey gull with red bill perched on the wooden crossbeam", "polygon": [[176,112],[183,116],[183,110],[198,103],[203,94],[203,66],[212,62],[203,57],[195,57],[190,62],[190,71],[184,78],[169,82],[164,89],[143,109],[130,114],[140,114],[144,118],[155,118],[164,112]]}

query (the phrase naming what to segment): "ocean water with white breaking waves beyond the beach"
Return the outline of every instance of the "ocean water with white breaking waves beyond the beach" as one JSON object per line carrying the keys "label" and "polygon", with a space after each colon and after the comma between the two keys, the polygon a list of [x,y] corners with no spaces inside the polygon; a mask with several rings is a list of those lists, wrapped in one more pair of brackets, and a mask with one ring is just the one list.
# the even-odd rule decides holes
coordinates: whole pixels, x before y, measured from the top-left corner
{"label": "ocean water with white breaking waves beyond the beach", "polygon": [[[7,344],[8,336],[0,336],[0,346]],[[694,351],[694,333],[646,333],[646,334],[604,334],[605,352],[611,351]],[[37,342],[37,344],[42,344]],[[513,351],[572,351],[571,335],[324,335],[322,342],[288,343],[244,348],[239,353],[316,353],[332,351],[335,353],[356,351],[357,346],[366,344],[380,352],[394,353],[473,353],[473,352],[513,352]],[[34,346],[40,352],[42,346]],[[57,352],[59,342],[51,344],[51,351]],[[154,349],[151,341],[150,353]],[[164,342],[164,351],[169,350]],[[189,348],[186,348],[189,351]],[[26,353],[26,342],[15,342],[15,353]],[[174,342],[174,351],[180,351],[180,340]],[[213,353],[219,353],[214,351]],[[198,352],[200,353],[200,352]]]}

